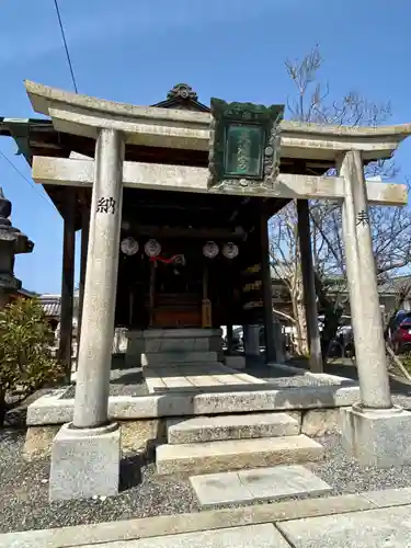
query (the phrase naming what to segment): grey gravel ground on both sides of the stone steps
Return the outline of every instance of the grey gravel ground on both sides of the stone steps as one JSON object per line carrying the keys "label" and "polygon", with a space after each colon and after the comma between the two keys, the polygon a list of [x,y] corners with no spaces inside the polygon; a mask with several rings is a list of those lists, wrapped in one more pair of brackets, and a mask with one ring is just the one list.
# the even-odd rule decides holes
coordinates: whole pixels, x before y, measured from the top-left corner
{"label": "grey gravel ground on both sides of the stone steps", "polygon": [[[331,494],[411,487],[411,466],[362,469],[345,456],[339,436],[317,441],[326,447],[326,459],[306,466],[333,487]],[[117,496],[50,504],[49,465],[25,463],[21,458],[23,443],[23,431],[0,432],[1,533],[198,511],[187,479],[158,477],[152,463],[144,467],[139,478],[133,459],[125,463],[124,491]]]}

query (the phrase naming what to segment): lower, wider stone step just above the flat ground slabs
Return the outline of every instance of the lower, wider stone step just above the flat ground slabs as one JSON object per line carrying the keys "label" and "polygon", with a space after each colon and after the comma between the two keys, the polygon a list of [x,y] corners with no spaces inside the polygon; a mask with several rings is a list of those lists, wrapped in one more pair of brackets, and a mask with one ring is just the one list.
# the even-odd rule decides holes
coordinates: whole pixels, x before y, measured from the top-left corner
{"label": "lower, wider stone step just above the flat ground slabs", "polygon": [[319,460],[323,454],[323,447],[304,434],[160,445],[157,448],[157,471],[158,473],[212,473]]}

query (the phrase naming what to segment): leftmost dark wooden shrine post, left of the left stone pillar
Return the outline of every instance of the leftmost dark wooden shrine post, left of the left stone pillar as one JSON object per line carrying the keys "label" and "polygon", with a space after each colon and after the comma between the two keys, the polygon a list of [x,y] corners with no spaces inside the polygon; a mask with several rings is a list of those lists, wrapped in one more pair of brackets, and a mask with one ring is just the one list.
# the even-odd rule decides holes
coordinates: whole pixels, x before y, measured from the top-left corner
{"label": "leftmost dark wooden shrine post, left of the left stone pillar", "polygon": [[60,341],[58,357],[69,383],[72,357],[72,311],[75,298],[76,248],[76,189],[67,186],[64,193],[62,275],[60,304]]}

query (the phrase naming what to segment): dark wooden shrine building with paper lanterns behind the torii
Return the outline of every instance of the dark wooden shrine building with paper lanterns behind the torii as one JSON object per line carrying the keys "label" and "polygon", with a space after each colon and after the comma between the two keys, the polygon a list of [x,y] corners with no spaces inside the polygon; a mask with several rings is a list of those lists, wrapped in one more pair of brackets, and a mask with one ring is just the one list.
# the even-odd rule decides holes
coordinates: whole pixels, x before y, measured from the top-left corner
{"label": "dark wooden shrine building with paper lanterns behind the torii", "polygon": [[[175,85],[164,101],[153,106],[209,112],[186,84]],[[0,135],[13,137],[30,164],[33,157],[94,158],[93,138],[60,132],[52,121],[0,121]],[[207,168],[208,149],[133,144],[126,146],[125,160]],[[330,167],[327,160],[298,163],[300,170],[318,174]],[[282,158],[281,170],[293,173],[295,161]],[[161,186],[160,173],[157,182]],[[121,240],[130,249],[119,254],[115,326],[145,330],[263,324],[264,306],[265,318],[271,316],[267,219],[287,199],[187,193],[178,185],[176,181],[175,191],[162,192],[155,187],[124,189]],[[50,183],[44,184],[44,189],[64,218],[60,355],[67,361],[71,344],[75,232],[82,230],[83,286],[91,187]],[[153,244],[158,244],[159,253],[149,256],[147,249]],[[217,252],[215,258],[205,256],[208,248],[212,255]],[[209,301],[208,313],[204,313],[204,300]]]}

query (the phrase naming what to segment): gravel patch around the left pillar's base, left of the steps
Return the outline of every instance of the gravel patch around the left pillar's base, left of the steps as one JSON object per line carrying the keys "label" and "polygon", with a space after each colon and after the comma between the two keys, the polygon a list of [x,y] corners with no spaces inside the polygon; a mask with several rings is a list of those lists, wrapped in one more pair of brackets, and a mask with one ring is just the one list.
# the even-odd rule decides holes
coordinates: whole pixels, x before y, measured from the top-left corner
{"label": "gravel patch around the left pillar's base, left of the steps", "polygon": [[49,463],[25,463],[21,457],[23,443],[22,431],[0,432],[1,533],[198,510],[187,480],[157,477],[155,465],[149,464],[139,481],[138,466],[133,466],[132,459],[124,463],[125,490],[117,496],[50,504]]}

